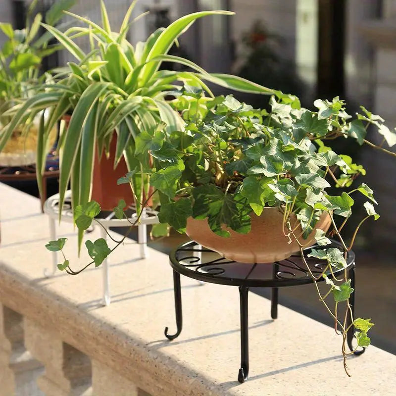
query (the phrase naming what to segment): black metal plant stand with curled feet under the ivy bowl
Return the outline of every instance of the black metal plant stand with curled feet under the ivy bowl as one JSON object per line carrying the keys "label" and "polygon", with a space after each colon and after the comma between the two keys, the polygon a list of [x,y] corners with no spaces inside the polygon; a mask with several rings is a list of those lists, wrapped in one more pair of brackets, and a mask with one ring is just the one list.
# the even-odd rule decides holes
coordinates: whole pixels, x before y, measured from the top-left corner
{"label": "black metal plant stand with curled feet under the ivy bowl", "polygon": [[[340,247],[333,241],[331,246],[315,246],[316,249]],[[307,257],[310,249],[305,250],[305,260],[312,273],[319,276],[326,262],[313,257]],[[275,261],[272,264],[247,264],[239,263],[221,257],[212,250],[202,248],[195,242],[187,242],[171,252],[169,255],[170,265],[173,268],[173,282],[175,294],[176,326],[175,334],[168,334],[168,327],[165,328],[165,336],[169,340],[174,340],[182,331],[182,295],[180,286],[180,274],[198,281],[217,283],[220,285],[238,286],[240,295],[241,314],[241,367],[238,373],[238,381],[245,382],[249,373],[249,350],[248,350],[248,303],[247,296],[249,288],[271,288],[271,317],[278,317],[278,289],[280,287],[307,285],[313,283],[306,266],[299,254],[293,255],[282,261]],[[333,271],[334,275],[340,275],[344,270]],[[350,287],[355,289],[355,254],[349,251],[347,254],[347,271],[351,279]],[[329,271],[329,276],[331,273]],[[323,280],[321,278],[320,280]],[[352,314],[354,312],[354,296],[352,293],[349,299]],[[347,326],[351,324],[348,315]],[[347,344],[353,350],[353,326],[347,332]],[[354,354],[360,355],[364,348],[356,350]]]}

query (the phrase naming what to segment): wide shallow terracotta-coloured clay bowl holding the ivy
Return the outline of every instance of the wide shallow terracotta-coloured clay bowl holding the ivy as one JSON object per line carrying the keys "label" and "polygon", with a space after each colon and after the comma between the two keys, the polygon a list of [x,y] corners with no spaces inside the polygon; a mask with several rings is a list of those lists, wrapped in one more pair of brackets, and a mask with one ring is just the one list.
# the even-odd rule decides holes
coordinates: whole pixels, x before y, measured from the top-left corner
{"label": "wide shallow terracotta-coloured clay bowl holding the ivy", "polygon": [[[223,238],[210,230],[207,219],[197,220],[192,217],[187,219],[186,234],[198,244],[217,251],[229,260],[244,263],[272,263],[284,260],[299,251],[297,242],[288,244],[288,238],[282,232],[283,214],[277,207],[265,207],[261,216],[251,214],[251,231],[248,234],[239,234],[227,229],[231,236]],[[292,217],[291,225],[295,228],[298,224],[296,216]],[[326,232],[331,224],[327,212],[323,212],[315,228]],[[287,230],[285,228],[285,232]],[[296,235],[302,232],[298,226]],[[315,230],[307,239],[300,238],[304,247],[315,243]]]}

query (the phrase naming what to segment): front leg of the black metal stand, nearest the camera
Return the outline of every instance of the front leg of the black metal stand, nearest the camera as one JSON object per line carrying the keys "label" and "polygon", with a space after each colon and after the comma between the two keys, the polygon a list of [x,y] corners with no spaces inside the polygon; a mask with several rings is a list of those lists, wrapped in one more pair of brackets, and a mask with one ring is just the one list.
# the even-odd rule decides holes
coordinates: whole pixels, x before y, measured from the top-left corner
{"label": "front leg of the black metal stand, nearest the camera", "polygon": [[247,380],[249,374],[249,328],[247,294],[249,288],[239,287],[239,297],[241,303],[241,368],[238,372],[238,381],[242,384]]}

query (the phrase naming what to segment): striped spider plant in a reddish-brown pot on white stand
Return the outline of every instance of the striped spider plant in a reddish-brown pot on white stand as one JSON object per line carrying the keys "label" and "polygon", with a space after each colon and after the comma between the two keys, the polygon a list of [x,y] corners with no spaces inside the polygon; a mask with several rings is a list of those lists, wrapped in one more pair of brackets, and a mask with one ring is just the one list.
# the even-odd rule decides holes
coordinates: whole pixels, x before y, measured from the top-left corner
{"label": "striped spider plant in a reddish-brown pot on white stand", "polygon": [[[170,136],[184,131],[183,119],[166,99],[170,91],[178,88],[177,84],[188,83],[194,89],[203,88],[210,96],[213,95],[204,80],[250,93],[272,92],[239,77],[208,74],[187,59],[167,54],[178,37],[196,19],[206,15],[230,15],[232,12],[202,11],[183,16],[167,28],[157,29],[145,43],[138,43],[134,48],[126,40],[126,35],[135,3],[134,1],[129,7],[117,33],[111,30],[102,1],[101,26],[70,12],[67,13],[85,26],[71,27],[62,33],[43,24],[78,62],[69,62],[68,71],[63,78],[54,84],[44,85],[41,90],[35,91],[34,97],[22,101],[7,112],[14,116],[3,132],[0,150],[16,125],[28,116],[32,118],[40,111],[48,111],[49,118],[43,119],[39,134],[41,140],[37,146],[41,162],[44,161],[44,147],[49,131],[65,114],[72,113],[67,128],[64,124],[61,127],[58,144],[61,156],[60,207],[70,182],[73,208],[90,201],[95,191],[99,191],[99,198],[108,198],[110,192],[115,191],[113,200],[101,202],[102,209],[111,209],[120,198],[128,200],[129,196],[133,196],[137,210],[140,211],[144,197],[149,194],[148,178],[142,171],[150,167],[150,157],[147,150],[136,147],[136,139],[139,136],[139,142],[160,142],[165,134]],[[91,48],[88,54],[73,42],[74,38],[80,36],[89,39]],[[159,70],[163,61],[181,63],[193,71]],[[102,155],[103,152],[105,155]],[[110,158],[110,161],[105,158]],[[126,166],[117,170],[117,165],[124,160]],[[99,189],[95,186],[94,173],[99,164],[102,167],[103,162],[110,162],[110,169],[105,167],[105,173],[111,179],[110,187],[106,184]],[[119,177],[127,169],[139,169],[139,172],[131,176],[133,195],[129,193],[129,187],[127,193],[125,189],[120,193],[114,188],[115,175],[118,174]],[[40,181],[41,173],[38,172],[37,176]],[[105,177],[97,179],[103,184]],[[103,190],[106,193],[102,193]],[[92,198],[98,199],[98,196]],[[80,232],[80,241],[81,238]]]}

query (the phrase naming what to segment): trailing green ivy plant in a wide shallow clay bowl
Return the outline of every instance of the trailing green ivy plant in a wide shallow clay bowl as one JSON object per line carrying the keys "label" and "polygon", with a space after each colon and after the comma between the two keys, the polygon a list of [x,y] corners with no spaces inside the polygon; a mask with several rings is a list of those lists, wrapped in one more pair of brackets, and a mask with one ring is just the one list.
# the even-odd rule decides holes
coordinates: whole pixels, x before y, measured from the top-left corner
{"label": "trailing green ivy plant in a wide shallow clay bowl", "polygon": [[[267,112],[232,96],[207,98],[203,90],[193,87],[172,94],[176,99],[171,105],[180,111],[185,129],[163,133],[161,139],[149,139],[144,134],[135,139],[135,153],[150,152],[152,158],[145,176],[159,195],[160,222],[165,229],[172,226],[202,246],[243,262],[272,262],[299,251],[309,271],[304,248],[314,244],[323,247],[311,248],[308,256],[324,260],[319,278],[325,278],[329,285],[326,295],[317,288],[319,278],[310,275],[343,336],[347,372],[346,358],[352,353],[345,347],[349,327],[356,329],[357,347],[366,347],[370,344],[367,332],[373,326],[371,319],[362,318],[350,318],[351,325],[347,326],[353,293],[346,271],[347,252],[362,224],[371,217],[377,220],[379,215],[374,209],[373,191],[364,183],[353,184],[365,173],[363,167],[334,152],[329,143],[350,138],[396,156],[368,141],[366,130],[374,125],[389,146],[396,144],[396,134],[364,107],[357,117],[350,117],[339,98],[316,100],[318,110],[310,111],[301,108],[296,97],[276,92]],[[118,183],[132,183],[139,173],[136,168]],[[329,193],[331,186],[337,188],[333,190],[336,193]],[[347,244],[341,232],[357,194],[367,198],[363,204],[366,215]],[[114,208],[117,217],[125,216],[124,208],[123,201]],[[99,211],[96,202],[81,206],[77,225],[85,228]],[[331,243],[329,236],[335,236],[342,248],[326,248]],[[65,239],[51,241],[47,248],[62,250],[64,243]],[[93,258],[88,266],[100,265],[121,243],[110,249],[102,239],[87,241]],[[81,272],[73,271],[67,260],[58,267],[71,274]],[[325,275],[329,269],[333,273],[343,268],[342,279]],[[336,301],[334,311],[326,302],[328,296]],[[343,303],[345,315],[338,312]]]}

